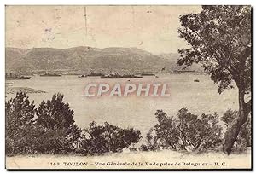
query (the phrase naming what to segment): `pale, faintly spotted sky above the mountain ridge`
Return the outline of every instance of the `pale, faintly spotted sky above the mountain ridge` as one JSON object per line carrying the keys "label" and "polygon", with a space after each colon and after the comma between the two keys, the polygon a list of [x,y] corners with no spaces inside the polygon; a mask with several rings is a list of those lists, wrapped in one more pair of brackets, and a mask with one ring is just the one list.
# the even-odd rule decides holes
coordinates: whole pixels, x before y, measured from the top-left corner
{"label": "pale, faintly spotted sky above the mountain ridge", "polygon": [[177,53],[178,17],[201,6],[6,6],[7,47],[137,47]]}

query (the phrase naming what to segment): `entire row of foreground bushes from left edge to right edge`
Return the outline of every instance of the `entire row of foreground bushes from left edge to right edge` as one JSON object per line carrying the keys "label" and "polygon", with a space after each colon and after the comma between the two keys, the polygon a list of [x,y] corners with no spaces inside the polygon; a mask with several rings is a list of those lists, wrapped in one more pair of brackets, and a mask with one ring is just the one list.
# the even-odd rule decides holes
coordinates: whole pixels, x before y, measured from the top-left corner
{"label": "entire row of foreground bushes from left edge to right edge", "polygon": [[[158,110],[158,124],[146,136],[146,144],[134,148],[142,138],[141,132],[133,128],[120,128],[105,122],[91,122],[87,128],[79,129],[73,120],[73,110],[57,94],[38,108],[19,92],[5,103],[6,154],[82,154],[94,155],[130,150],[154,151],[173,149],[202,152],[222,145],[222,128],[218,125],[218,114],[202,114],[198,117],[182,108],[177,117],[168,117]],[[237,117],[237,111],[228,110],[221,118],[229,126]],[[233,150],[244,150],[251,146],[251,120],[243,125]]]}

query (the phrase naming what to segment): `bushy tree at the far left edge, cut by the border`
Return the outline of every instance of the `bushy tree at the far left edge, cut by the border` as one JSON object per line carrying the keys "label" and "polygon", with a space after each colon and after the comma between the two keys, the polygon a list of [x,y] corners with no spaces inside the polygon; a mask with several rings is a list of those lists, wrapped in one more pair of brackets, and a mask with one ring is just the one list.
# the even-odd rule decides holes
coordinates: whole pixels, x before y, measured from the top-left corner
{"label": "bushy tree at the far left edge, cut by the border", "polygon": [[8,155],[23,154],[31,149],[27,142],[31,134],[36,113],[34,102],[28,96],[18,92],[15,98],[5,102],[6,115],[6,153]]}

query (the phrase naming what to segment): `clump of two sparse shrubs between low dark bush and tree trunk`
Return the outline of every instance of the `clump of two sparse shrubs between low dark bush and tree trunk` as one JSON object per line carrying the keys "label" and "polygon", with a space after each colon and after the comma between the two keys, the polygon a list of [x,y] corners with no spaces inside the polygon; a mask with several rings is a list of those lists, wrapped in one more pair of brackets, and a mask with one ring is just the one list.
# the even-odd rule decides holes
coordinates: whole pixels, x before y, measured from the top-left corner
{"label": "clump of two sparse shrubs between low dark bush and tree trunk", "polygon": [[[147,149],[172,148],[202,151],[221,144],[221,127],[218,114],[197,115],[187,108],[178,111],[176,119],[168,117],[162,110],[156,113],[158,124],[148,132]],[[141,147],[141,149],[146,149]]]}

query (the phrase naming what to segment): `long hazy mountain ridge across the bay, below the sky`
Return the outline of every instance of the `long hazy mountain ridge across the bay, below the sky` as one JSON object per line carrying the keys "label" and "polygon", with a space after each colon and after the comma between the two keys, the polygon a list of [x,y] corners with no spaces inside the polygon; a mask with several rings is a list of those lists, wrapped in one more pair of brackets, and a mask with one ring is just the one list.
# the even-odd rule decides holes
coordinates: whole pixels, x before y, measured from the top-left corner
{"label": "long hazy mountain ridge across the bay, below the sky", "polygon": [[[170,56],[172,55],[172,56]],[[153,55],[137,48],[111,47],[96,49],[6,48],[6,72],[37,72],[54,70],[139,71],[160,73],[163,67],[171,72],[177,67],[177,54]]]}

